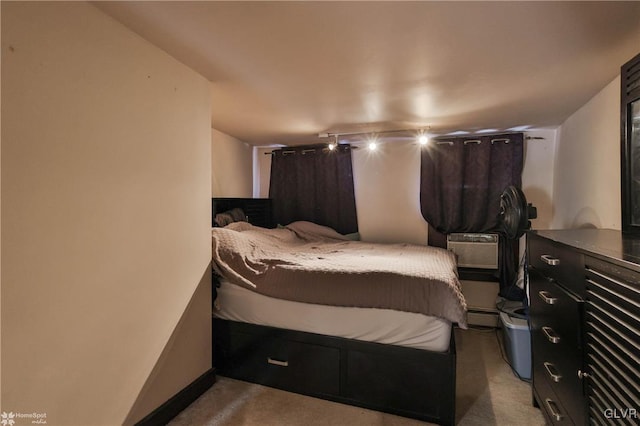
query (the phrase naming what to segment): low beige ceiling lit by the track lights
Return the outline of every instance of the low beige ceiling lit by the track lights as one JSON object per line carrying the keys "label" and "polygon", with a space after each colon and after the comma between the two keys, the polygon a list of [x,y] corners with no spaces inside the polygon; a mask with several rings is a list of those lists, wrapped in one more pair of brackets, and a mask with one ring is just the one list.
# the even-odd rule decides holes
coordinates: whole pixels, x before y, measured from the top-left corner
{"label": "low beige ceiling lit by the track lights", "polygon": [[[97,2],[211,82],[212,127],[556,127],[640,52],[640,2]],[[320,140],[321,141],[321,140]]]}

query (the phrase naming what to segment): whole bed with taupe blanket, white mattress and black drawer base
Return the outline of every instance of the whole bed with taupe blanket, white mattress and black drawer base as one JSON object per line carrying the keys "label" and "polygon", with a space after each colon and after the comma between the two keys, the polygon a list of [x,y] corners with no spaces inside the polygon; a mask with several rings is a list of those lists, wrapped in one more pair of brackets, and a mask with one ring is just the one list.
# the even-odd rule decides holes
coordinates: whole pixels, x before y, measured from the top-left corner
{"label": "whole bed with taupe blanket, white mattress and black drawer base", "polygon": [[[225,225],[212,229],[220,375],[455,424],[453,324],[466,326],[466,307],[450,253],[405,244],[393,257],[378,252],[389,245],[315,224],[275,227],[270,211],[253,212],[268,218],[258,219],[261,227],[238,215],[247,204],[270,210],[269,200],[212,202],[214,226]],[[295,249],[271,251],[289,243]]]}

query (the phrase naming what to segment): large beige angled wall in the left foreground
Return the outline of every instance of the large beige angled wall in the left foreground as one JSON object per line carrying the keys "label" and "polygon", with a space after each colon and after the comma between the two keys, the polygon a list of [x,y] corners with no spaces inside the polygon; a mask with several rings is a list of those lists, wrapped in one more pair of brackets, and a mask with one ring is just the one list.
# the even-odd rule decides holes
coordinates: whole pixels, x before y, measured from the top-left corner
{"label": "large beige angled wall in the left foreground", "polygon": [[121,424],[209,279],[208,83],[89,4],[1,7],[1,409]]}

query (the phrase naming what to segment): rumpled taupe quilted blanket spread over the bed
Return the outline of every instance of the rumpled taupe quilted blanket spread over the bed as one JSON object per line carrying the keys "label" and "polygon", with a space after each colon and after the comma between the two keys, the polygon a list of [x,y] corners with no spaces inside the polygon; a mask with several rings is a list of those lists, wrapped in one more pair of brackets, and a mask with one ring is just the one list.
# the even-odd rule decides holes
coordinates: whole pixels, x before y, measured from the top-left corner
{"label": "rumpled taupe quilted blanket spread over the bed", "polygon": [[441,248],[350,241],[311,222],[236,222],[213,228],[212,245],[215,273],[266,296],[416,312],[467,327],[456,260]]}

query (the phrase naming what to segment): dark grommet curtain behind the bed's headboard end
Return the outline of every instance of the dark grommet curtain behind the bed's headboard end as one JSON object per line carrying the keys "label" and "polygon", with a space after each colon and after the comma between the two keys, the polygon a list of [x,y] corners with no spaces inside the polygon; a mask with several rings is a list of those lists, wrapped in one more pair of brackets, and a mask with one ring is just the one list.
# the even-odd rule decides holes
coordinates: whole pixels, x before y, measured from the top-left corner
{"label": "dark grommet curtain behind the bed's headboard end", "polygon": [[276,223],[306,220],[342,234],[358,230],[349,145],[283,148],[272,155],[269,198]]}

